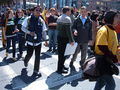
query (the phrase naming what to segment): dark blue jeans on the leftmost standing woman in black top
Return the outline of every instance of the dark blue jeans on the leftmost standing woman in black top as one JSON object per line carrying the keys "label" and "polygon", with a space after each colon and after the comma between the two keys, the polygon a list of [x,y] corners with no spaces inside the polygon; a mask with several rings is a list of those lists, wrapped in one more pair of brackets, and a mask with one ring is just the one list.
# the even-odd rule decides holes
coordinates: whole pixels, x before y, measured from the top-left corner
{"label": "dark blue jeans on the leftmost standing woman in black top", "polygon": [[13,53],[13,57],[15,58],[15,52],[16,52],[16,36],[14,37],[7,37],[7,46],[6,46],[6,52],[9,51],[9,48],[11,46],[12,43],[12,53]]}

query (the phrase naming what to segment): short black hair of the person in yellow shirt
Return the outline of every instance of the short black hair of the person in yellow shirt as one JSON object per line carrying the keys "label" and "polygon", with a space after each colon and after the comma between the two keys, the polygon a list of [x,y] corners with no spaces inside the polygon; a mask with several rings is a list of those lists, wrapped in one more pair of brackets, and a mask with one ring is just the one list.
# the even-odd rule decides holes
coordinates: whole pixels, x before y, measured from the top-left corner
{"label": "short black hair of the person in yellow shirt", "polygon": [[104,16],[105,24],[113,24],[114,17],[117,13],[115,11],[109,11]]}

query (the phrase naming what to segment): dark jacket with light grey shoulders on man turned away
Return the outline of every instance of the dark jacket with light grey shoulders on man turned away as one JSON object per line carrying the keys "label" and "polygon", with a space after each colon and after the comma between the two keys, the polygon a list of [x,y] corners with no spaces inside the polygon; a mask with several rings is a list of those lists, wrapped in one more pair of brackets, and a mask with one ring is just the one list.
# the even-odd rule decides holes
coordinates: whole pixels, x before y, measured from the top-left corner
{"label": "dark jacket with light grey shoulders on man turned away", "polygon": [[58,36],[67,38],[69,42],[73,42],[73,35],[71,30],[71,19],[69,16],[63,14],[57,20]]}

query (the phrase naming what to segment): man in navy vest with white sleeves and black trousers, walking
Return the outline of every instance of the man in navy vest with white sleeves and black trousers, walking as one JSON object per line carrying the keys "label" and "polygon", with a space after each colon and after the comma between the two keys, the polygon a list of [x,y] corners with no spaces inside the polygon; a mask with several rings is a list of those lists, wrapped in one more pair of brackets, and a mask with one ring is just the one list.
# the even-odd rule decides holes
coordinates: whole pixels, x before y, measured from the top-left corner
{"label": "man in navy vest with white sleeves and black trousers, walking", "polygon": [[[28,66],[28,62],[33,55],[33,51],[35,51],[34,71],[32,74],[32,76],[35,77],[41,77],[41,73],[39,73],[40,53],[42,45],[41,41],[42,37],[46,36],[45,30],[47,30],[45,22],[40,16],[41,11],[42,8],[40,6],[34,7],[33,14],[27,17],[22,23],[22,30],[27,34],[27,54],[24,59],[24,66]],[[44,39],[46,39],[46,37],[44,37]]]}

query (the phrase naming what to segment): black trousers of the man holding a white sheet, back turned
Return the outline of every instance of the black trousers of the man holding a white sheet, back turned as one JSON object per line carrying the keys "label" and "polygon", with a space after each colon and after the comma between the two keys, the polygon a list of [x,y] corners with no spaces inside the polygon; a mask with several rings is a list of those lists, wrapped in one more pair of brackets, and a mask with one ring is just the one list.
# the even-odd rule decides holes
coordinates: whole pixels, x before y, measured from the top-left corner
{"label": "black trousers of the man holding a white sheet, back turned", "polygon": [[67,43],[69,42],[68,38],[62,38],[58,36],[58,66],[57,71],[62,71],[64,67],[64,62],[66,60],[66,56],[64,56],[65,48]]}

